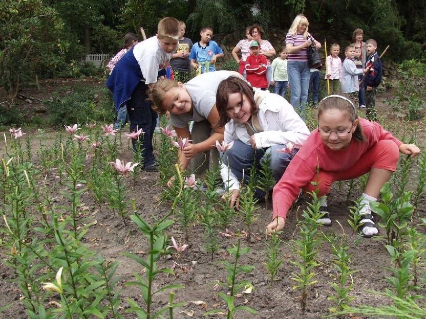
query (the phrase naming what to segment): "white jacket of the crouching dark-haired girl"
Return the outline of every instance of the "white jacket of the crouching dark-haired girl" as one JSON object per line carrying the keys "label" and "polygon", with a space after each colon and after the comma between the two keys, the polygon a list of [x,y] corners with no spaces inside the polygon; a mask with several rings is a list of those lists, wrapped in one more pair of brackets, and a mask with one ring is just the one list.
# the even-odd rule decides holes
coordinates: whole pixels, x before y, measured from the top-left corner
{"label": "white jacket of the crouching dark-haired girl", "polygon": [[[256,90],[254,101],[259,108],[258,119],[263,132],[255,133],[256,148],[266,148],[287,142],[303,145],[310,135],[305,122],[297,115],[290,103],[278,94],[269,91]],[[225,125],[224,141],[232,147],[233,141],[250,145],[250,135],[246,126],[234,120]],[[226,189],[240,189],[237,177],[228,166],[222,163],[221,176]]]}

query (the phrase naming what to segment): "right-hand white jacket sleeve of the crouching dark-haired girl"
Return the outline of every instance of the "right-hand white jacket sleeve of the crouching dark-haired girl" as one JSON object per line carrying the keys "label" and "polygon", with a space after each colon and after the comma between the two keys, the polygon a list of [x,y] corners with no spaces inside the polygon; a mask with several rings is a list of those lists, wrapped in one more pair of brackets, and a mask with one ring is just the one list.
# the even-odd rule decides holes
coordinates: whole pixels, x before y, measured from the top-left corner
{"label": "right-hand white jacket sleeve of the crouching dark-haired girl", "polygon": [[[286,99],[278,95],[270,95],[265,99],[271,99],[270,101],[267,101],[267,103],[280,104],[281,107],[278,112],[266,110],[266,112],[272,113],[272,117],[278,123],[280,129],[255,133],[253,136],[256,148],[260,149],[277,144],[285,145],[288,142],[300,145],[305,144],[308,136],[310,135],[309,128],[300,116],[297,115],[291,104],[288,103]],[[266,112],[265,118],[267,119]]]}

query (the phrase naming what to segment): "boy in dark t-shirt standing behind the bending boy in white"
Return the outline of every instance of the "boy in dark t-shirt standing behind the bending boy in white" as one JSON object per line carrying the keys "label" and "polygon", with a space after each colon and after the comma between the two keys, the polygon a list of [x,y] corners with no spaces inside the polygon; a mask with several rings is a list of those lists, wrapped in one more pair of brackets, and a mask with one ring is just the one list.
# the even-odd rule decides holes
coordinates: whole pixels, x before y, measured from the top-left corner
{"label": "boy in dark t-shirt standing behind the bending boy in white", "polygon": [[191,61],[189,60],[189,52],[193,47],[193,41],[184,37],[186,26],[185,22],[179,21],[181,36],[177,50],[173,53],[170,60],[175,80],[186,83],[191,78]]}

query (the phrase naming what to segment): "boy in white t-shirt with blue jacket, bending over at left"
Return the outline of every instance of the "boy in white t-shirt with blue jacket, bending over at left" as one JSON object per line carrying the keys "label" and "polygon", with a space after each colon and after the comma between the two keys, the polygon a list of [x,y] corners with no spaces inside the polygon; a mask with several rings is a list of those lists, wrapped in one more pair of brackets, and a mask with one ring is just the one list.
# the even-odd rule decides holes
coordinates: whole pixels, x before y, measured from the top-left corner
{"label": "boy in white t-shirt with blue jacket, bending over at left", "polygon": [[[179,21],[165,17],[158,23],[157,35],[136,44],[118,61],[107,80],[114,96],[116,111],[124,103],[130,119],[130,131],[142,129],[140,137],[143,163],[146,171],[157,171],[152,139],[157,113],[147,100],[146,91],[157,82],[159,70],[165,69],[181,36]],[[132,140],[136,150],[136,141]]]}

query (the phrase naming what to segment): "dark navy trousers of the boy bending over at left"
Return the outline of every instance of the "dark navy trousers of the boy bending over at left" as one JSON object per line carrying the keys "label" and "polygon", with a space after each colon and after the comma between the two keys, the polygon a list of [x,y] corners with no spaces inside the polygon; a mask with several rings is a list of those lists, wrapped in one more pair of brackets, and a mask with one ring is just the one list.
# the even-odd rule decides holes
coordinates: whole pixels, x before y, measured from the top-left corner
{"label": "dark navy trousers of the boy bending over at left", "polygon": [[[151,101],[148,98],[146,90],[148,85],[140,82],[136,86],[132,97],[127,101],[127,113],[130,120],[130,131],[142,129],[144,132],[140,135],[139,141],[142,142],[143,167],[150,166],[155,163],[153,135],[157,124],[157,112],[151,107]],[[133,149],[136,151],[136,141],[132,140]]]}

